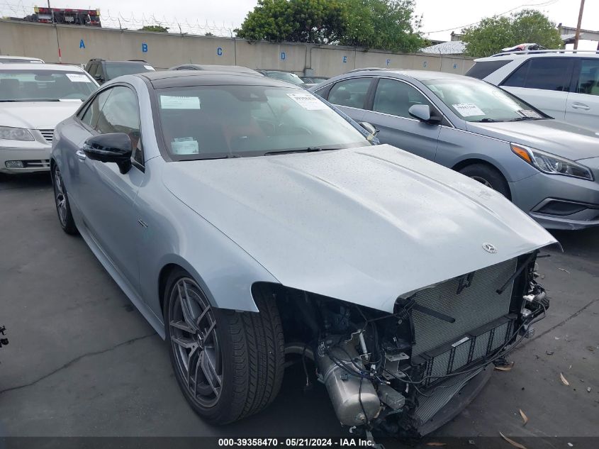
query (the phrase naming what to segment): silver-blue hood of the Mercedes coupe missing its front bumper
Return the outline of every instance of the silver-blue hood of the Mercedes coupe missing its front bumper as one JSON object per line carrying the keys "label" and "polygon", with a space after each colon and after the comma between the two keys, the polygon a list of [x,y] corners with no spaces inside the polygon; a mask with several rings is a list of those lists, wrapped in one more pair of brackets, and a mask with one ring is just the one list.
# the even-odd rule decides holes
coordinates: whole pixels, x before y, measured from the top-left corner
{"label": "silver-blue hood of the Mercedes coupe missing its front bumper", "polygon": [[281,284],[390,312],[555,242],[500,194],[390,145],[170,162],[162,179]]}

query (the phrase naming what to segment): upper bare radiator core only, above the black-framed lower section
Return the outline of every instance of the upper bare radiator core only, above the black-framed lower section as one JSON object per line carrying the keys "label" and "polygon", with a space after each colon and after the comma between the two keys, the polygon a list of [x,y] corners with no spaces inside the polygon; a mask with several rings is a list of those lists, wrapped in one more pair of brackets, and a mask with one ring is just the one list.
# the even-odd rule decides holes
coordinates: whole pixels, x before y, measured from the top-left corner
{"label": "upper bare radiator core only, above the black-framed lower section", "polygon": [[416,344],[412,356],[445,343],[456,343],[467,332],[508,314],[513,285],[503,294],[496,290],[514,274],[516,265],[516,259],[507,260],[474,272],[470,279],[464,275],[417,292],[414,296],[417,304],[452,316],[456,321],[448,323],[413,311]]}

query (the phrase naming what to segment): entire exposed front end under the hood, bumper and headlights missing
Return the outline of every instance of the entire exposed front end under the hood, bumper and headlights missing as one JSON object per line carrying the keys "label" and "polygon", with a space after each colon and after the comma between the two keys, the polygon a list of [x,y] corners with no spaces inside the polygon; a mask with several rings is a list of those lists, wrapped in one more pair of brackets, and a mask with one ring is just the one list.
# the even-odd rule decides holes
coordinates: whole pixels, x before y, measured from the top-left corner
{"label": "entire exposed front end under the hood, bumper and headlights missing", "polygon": [[[352,433],[423,436],[463,409],[544,317],[538,251],[403,294],[393,314],[279,287],[288,353],[314,360]],[[457,394],[459,399],[457,399]]]}

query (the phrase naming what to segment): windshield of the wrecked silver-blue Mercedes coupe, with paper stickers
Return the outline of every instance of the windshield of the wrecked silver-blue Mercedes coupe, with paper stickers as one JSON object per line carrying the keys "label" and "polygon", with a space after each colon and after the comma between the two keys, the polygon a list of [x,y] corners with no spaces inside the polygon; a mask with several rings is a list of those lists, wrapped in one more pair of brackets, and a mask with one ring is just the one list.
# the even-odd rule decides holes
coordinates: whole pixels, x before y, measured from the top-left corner
{"label": "windshield of the wrecked silver-blue Mercedes coupe, with paper stickers", "polygon": [[157,104],[162,135],[174,160],[370,145],[323,101],[293,87],[159,89]]}

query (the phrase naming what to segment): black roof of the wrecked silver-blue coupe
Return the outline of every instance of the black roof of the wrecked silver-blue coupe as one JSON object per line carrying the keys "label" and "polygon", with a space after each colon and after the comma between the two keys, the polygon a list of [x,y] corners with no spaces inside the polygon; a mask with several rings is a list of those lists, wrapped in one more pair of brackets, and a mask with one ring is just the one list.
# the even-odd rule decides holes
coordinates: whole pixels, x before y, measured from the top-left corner
{"label": "black roof of the wrecked silver-blue coupe", "polygon": [[164,87],[186,86],[219,86],[219,85],[247,85],[247,86],[273,86],[273,87],[301,87],[293,86],[288,82],[279,81],[269,77],[257,77],[244,72],[215,72],[211,70],[164,70],[162,72],[143,72],[135,75],[147,79],[155,89]]}

